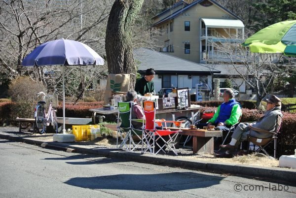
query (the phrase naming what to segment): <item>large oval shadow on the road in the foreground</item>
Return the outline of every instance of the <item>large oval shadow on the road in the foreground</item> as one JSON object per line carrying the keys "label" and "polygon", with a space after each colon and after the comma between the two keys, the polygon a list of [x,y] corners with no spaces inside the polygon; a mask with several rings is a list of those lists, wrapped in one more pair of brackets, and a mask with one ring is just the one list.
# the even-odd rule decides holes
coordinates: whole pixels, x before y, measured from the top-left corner
{"label": "large oval shadow on the road in the foreground", "polygon": [[161,174],[115,174],[98,177],[75,177],[66,184],[81,188],[172,192],[207,188],[220,184],[222,176],[208,176],[192,172]]}

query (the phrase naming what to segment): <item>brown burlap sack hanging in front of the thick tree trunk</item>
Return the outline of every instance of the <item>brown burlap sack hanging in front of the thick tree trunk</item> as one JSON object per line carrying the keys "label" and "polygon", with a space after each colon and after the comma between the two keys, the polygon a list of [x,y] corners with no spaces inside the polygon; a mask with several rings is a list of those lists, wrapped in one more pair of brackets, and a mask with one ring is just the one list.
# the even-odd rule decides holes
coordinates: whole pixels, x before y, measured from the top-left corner
{"label": "brown burlap sack hanging in front of the thick tree trunk", "polygon": [[110,73],[107,79],[104,103],[111,104],[112,95],[115,92],[128,92],[130,84],[130,74],[113,74]]}

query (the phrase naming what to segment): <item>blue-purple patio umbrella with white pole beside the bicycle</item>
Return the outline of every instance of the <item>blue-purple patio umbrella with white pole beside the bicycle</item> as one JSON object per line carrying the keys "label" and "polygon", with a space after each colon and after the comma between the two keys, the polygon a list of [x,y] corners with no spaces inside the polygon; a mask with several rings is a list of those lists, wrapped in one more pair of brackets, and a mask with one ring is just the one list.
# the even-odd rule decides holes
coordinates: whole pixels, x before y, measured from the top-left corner
{"label": "blue-purple patio umbrella with white pole beside the bicycle", "polygon": [[104,65],[104,59],[84,43],[58,39],[35,48],[22,66],[63,66],[63,132],[65,132],[65,69],[64,66]]}

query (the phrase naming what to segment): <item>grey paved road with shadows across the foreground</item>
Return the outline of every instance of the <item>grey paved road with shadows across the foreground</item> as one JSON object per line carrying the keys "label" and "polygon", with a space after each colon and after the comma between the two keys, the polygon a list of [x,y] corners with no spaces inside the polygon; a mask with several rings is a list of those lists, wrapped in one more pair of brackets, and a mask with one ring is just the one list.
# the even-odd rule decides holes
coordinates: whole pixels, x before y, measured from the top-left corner
{"label": "grey paved road with shadows across the foreground", "polygon": [[[279,188],[285,191],[278,191]],[[0,139],[1,198],[215,196],[295,198],[296,187],[66,153]]]}

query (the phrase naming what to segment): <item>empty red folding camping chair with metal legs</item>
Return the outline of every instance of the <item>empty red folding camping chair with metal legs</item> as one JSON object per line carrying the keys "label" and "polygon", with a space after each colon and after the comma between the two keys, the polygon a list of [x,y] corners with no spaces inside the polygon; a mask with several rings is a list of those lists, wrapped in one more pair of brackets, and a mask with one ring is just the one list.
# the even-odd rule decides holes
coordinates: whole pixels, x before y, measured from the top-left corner
{"label": "empty red folding camping chair with metal legs", "polygon": [[[155,120],[155,112],[155,102],[150,100],[144,101],[144,114],[146,117],[146,124],[142,136],[142,153],[145,153],[148,150],[150,154],[153,155],[156,155],[160,151],[166,153],[166,147],[168,149],[167,153],[169,153],[169,151],[173,151],[175,155],[178,155],[174,142],[178,137],[179,132],[181,132],[181,123],[184,121]],[[169,129],[156,129],[156,126],[162,127],[163,123],[165,125],[165,128],[167,128],[166,123],[174,123],[175,126],[178,126],[179,128],[176,131],[171,131]],[[164,138],[164,136],[167,136],[168,139]],[[158,149],[156,147],[158,147]]]}

